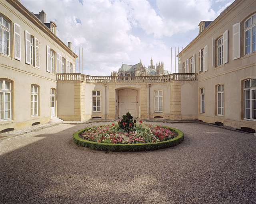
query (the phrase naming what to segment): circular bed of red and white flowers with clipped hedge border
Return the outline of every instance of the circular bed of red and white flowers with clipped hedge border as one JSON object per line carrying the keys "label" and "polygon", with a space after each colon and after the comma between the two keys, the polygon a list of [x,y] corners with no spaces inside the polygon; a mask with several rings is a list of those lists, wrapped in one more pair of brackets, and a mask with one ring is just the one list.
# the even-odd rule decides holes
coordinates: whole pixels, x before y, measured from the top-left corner
{"label": "circular bed of red and white flowers with clipped hedge border", "polygon": [[104,151],[146,151],[172,147],[184,139],[182,131],[165,126],[111,124],[82,129],[73,135],[74,143]]}

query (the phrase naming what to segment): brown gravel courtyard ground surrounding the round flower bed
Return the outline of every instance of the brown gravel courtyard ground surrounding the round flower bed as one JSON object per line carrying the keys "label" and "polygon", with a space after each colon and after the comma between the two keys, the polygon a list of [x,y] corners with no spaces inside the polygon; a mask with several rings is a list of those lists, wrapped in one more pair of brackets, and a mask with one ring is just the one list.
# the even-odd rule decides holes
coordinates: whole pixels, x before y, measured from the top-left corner
{"label": "brown gravel courtyard ground surrounding the round flower bed", "polygon": [[0,203],[256,203],[253,134],[198,123],[151,124],[180,129],[184,141],[137,153],[72,143],[72,133],[96,124],[61,124],[0,141]]}

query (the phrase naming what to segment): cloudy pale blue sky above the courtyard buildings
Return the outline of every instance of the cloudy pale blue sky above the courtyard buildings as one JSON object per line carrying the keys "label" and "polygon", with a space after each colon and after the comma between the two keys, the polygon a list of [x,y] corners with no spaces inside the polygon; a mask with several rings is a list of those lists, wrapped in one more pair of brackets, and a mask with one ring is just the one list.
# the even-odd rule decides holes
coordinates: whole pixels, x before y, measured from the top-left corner
{"label": "cloudy pale blue sky above the courtyard buildings", "polygon": [[[175,53],[197,35],[202,20],[214,20],[234,0],[20,0],[34,14],[43,9],[57,36],[80,47],[80,73],[109,76],[122,63],[164,63],[175,72]],[[172,47],[172,71],[171,71]],[[178,59],[176,59],[178,63]],[[178,67],[176,65],[176,72]],[[79,59],[76,61],[79,72]]]}

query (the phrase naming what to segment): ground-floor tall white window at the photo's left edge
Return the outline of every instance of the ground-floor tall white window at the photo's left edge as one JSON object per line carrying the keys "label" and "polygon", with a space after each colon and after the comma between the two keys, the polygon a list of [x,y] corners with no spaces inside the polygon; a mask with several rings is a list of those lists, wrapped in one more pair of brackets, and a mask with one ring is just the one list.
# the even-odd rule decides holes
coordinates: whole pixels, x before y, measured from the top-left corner
{"label": "ground-floor tall white window at the photo's left edge", "polygon": [[11,82],[0,79],[0,120],[11,119],[11,85]]}

